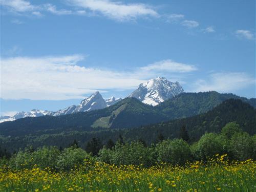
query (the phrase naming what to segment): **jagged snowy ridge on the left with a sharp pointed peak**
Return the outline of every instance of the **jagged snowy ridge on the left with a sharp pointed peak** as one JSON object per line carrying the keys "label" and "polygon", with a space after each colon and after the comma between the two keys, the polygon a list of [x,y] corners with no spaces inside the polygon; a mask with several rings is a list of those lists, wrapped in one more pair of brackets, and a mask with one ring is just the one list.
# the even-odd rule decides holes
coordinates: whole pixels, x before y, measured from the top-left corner
{"label": "jagged snowy ridge on the left with a sharp pointed peak", "polygon": [[32,110],[30,112],[19,112],[14,116],[5,116],[1,117],[0,123],[5,121],[14,121],[16,119],[25,118],[25,117],[40,117],[44,115],[51,116],[60,116],[60,115],[68,115],[72,113],[78,112],[88,112],[98,109],[106,108],[107,106],[113,105],[120,101],[121,98],[115,99],[115,97],[111,97],[110,99],[104,100],[100,93],[97,91],[92,94],[90,97],[83,99],[79,105],[72,105],[63,110],[58,110],[56,112],[44,111],[44,110]]}

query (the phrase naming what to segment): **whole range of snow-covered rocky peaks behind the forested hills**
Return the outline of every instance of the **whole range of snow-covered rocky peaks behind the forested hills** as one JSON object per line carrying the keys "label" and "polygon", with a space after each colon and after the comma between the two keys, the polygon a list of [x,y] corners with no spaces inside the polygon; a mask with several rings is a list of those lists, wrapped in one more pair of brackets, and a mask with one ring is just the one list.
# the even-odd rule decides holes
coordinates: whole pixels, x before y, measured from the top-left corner
{"label": "whole range of snow-covered rocky peaks behind the forested hills", "polygon": [[[179,82],[170,82],[164,77],[157,77],[145,83],[141,83],[138,88],[130,95],[130,97],[135,97],[145,104],[155,106],[160,102],[172,98],[182,92],[184,91]],[[78,112],[89,112],[93,110],[104,109],[107,106],[111,106],[120,100],[121,98],[115,99],[115,97],[104,100],[100,93],[97,91],[90,97],[83,99],[79,105],[72,105],[56,112],[35,109],[30,112],[19,112],[14,116],[1,117],[0,123],[4,121],[13,121],[24,117],[40,117],[44,115],[60,116]]]}

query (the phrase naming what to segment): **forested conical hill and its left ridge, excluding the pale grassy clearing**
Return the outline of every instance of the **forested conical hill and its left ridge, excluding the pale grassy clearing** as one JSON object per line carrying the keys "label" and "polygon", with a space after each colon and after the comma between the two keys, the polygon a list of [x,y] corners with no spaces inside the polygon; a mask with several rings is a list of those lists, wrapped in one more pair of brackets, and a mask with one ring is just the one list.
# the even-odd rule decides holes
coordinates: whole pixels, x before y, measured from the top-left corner
{"label": "forested conical hill and its left ridge, excluding the pale grassy clearing", "polygon": [[[101,110],[80,112],[61,116],[27,117],[15,121],[0,123],[0,135],[20,136],[26,134],[43,134],[46,130],[61,131],[72,127],[73,130],[91,130],[91,126],[100,118],[112,116],[121,106],[122,112],[112,119],[108,127],[132,127],[141,124],[156,123],[165,117],[153,109],[153,106],[141,103],[135,98],[125,98],[118,103]],[[151,117],[148,119],[147,117]],[[97,126],[96,126],[97,127]]]}

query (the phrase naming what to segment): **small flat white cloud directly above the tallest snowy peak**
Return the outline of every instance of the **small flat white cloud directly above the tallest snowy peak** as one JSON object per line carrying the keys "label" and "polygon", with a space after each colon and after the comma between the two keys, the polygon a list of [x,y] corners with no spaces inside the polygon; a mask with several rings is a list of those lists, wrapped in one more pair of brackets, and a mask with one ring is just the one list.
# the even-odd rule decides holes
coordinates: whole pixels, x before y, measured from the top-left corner
{"label": "small flat white cloud directly above the tallest snowy peak", "polygon": [[197,68],[193,65],[175,62],[170,59],[155,62],[148,66],[142,67],[141,69],[145,71],[165,71],[174,73],[186,73],[197,70]]}

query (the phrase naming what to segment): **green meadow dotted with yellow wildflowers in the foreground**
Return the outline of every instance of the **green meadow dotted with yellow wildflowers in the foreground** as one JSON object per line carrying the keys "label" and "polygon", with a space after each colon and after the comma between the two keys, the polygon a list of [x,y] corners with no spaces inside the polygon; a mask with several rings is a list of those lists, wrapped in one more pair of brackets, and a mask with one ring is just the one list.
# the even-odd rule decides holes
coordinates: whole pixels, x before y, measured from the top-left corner
{"label": "green meadow dotted with yellow wildflowers in the foreground", "polygon": [[184,166],[111,165],[84,160],[69,172],[2,166],[0,191],[255,191],[255,161],[216,155]]}

